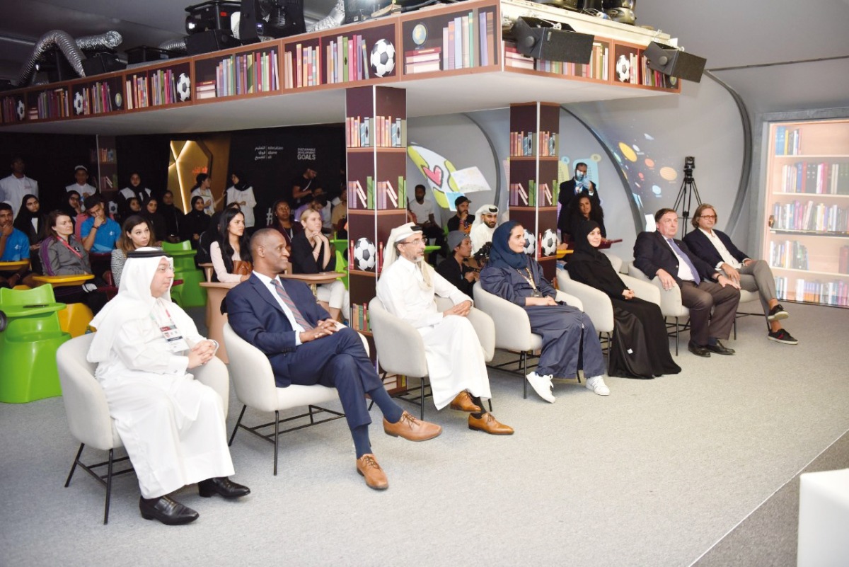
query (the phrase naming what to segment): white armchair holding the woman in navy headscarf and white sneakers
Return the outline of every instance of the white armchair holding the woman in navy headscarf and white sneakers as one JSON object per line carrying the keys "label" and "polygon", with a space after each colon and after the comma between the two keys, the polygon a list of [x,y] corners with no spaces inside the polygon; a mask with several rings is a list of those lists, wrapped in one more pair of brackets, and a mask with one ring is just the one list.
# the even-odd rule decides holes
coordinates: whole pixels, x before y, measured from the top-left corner
{"label": "white armchair holding the woman in navy headscarf and white sneakers", "polygon": [[[583,303],[575,295],[569,295],[563,291],[557,292],[557,300],[565,301],[567,304],[583,310]],[[528,385],[525,379],[528,373],[528,356],[543,348],[543,338],[531,333],[531,321],[527,312],[520,306],[510,303],[508,300],[492,295],[481,286],[481,282],[475,283],[475,306],[489,317],[495,324],[495,348],[504,351],[519,353],[520,368],[517,371],[508,370],[516,374],[521,373],[524,385],[523,397],[528,396]],[[492,368],[503,369],[512,366],[515,361],[504,362]]]}

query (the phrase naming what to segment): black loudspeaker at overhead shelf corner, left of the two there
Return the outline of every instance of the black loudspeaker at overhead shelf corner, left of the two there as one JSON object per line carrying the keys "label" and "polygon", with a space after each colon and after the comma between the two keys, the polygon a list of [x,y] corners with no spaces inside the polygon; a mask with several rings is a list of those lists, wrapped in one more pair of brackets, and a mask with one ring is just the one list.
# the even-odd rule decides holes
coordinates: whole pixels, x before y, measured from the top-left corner
{"label": "black loudspeaker at overhead shelf corner, left of the two there", "polygon": [[510,34],[522,55],[587,65],[593,53],[595,36],[578,33],[568,24],[561,26],[563,29],[558,30],[549,21],[520,17],[516,18]]}

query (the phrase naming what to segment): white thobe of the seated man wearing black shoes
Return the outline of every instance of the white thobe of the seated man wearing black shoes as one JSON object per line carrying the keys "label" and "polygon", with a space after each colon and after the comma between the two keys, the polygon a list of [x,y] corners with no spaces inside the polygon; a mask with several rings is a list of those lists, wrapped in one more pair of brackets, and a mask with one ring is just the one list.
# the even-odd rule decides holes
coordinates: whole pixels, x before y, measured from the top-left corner
{"label": "white thobe of the seated man wearing black shoes", "polygon": [[[168,311],[189,345],[204,339],[182,309]],[[121,326],[95,373],[145,498],[233,474],[221,396],[187,366],[146,317]]]}

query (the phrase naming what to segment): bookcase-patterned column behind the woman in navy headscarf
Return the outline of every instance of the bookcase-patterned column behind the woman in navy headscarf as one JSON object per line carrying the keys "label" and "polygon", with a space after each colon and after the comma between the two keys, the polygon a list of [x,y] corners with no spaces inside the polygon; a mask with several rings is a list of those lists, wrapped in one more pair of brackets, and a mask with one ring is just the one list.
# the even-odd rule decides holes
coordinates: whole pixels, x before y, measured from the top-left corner
{"label": "bookcase-patterned column behind the woman in navy headscarf", "polygon": [[510,105],[510,220],[526,230],[528,247],[548,280],[557,270],[559,104]]}

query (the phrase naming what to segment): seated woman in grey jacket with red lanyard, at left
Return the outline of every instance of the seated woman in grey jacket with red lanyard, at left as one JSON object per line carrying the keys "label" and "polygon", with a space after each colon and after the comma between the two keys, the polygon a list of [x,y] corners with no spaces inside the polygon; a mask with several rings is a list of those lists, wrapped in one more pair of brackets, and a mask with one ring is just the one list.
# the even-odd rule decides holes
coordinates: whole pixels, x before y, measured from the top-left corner
{"label": "seated woman in grey jacket with red lanyard, at left", "polygon": [[[48,237],[38,250],[46,276],[76,276],[92,273],[88,251],[74,236],[74,225],[63,211],[48,215]],[[85,303],[97,313],[106,303],[106,296],[97,291],[103,280],[94,278],[81,286],[61,286],[53,289],[56,300],[62,303]]]}

